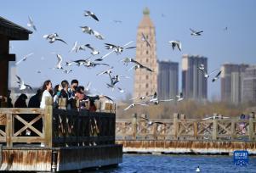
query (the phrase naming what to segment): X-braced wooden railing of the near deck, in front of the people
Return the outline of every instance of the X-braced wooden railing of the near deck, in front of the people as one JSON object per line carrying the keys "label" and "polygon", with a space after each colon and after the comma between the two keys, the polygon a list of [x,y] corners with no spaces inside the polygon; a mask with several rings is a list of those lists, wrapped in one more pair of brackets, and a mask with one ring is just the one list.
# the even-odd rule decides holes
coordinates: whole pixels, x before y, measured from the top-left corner
{"label": "X-braced wooden railing of the near deck, in front of the people", "polygon": [[1,108],[0,143],[9,148],[19,143],[44,147],[114,144],[114,111],[112,105],[105,112],[53,109],[51,98],[45,109]]}

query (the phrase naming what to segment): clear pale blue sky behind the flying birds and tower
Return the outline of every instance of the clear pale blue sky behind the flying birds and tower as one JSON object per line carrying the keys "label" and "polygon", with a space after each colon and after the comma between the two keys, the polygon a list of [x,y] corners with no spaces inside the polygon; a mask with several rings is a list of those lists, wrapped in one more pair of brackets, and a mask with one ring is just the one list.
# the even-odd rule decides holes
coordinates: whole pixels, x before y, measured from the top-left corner
{"label": "clear pale blue sky behind the flying birds and tower", "polygon": [[[105,83],[106,76],[95,74],[105,67],[87,69],[74,67],[73,73],[64,74],[60,70],[50,70],[57,62],[54,53],[60,53],[64,61],[85,59],[89,51],[69,53],[73,43],[90,43],[100,50],[100,55],[107,53],[104,43],[110,42],[123,45],[131,40],[131,46],[136,45],[137,27],[142,20],[142,11],[150,8],[151,20],[156,26],[156,56],[157,59],[170,59],[179,62],[179,88],[181,86],[180,63],[182,54],[200,54],[208,57],[209,70],[219,68],[226,62],[234,64],[256,64],[256,1],[253,0],[214,0],[214,1],[172,1],[172,0],[129,0],[129,1],[86,1],[86,0],[5,0],[1,2],[0,15],[26,28],[28,16],[34,20],[37,31],[29,41],[11,42],[11,53],[16,54],[16,60],[28,53],[34,53],[26,62],[18,65],[18,75],[31,86],[41,86],[43,81],[50,79],[54,85],[66,79],[77,79],[82,85],[88,81],[100,92],[109,93]],[[83,11],[93,11],[100,22],[84,17]],[[113,20],[122,20],[116,24]],[[79,26],[88,25],[105,36],[104,41],[94,36],[82,33]],[[224,28],[228,27],[227,31]],[[202,36],[191,36],[189,28],[202,30]],[[30,28],[30,30],[32,30]],[[43,35],[57,32],[68,45],[62,42],[48,43]],[[168,41],[180,40],[182,52],[172,50]],[[127,92],[133,91],[133,73],[127,72],[119,62],[124,57],[134,57],[135,49],[127,50],[121,55],[113,53],[105,59],[115,67],[114,74],[130,75],[131,79],[123,79],[119,84]],[[99,56],[100,57],[100,56]],[[97,58],[99,58],[97,57]],[[41,70],[41,74],[37,74]],[[117,98],[125,94],[117,91],[109,94]],[[220,95],[220,82],[208,83],[208,98]]]}

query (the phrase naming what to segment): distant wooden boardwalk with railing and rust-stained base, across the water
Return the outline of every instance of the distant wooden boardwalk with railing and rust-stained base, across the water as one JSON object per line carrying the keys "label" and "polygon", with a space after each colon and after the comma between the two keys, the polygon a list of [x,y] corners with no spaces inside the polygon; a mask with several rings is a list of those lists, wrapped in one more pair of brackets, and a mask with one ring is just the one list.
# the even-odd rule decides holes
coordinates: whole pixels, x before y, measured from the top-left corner
{"label": "distant wooden boardwalk with railing and rust-stained base, across the water", "polygon": [[151,122],[135,115],[129,120],[117,120],[117,143],[123,144],[124,152],[222,154],[247,149],[256,154],[253,116],[248,120],[194,120],[174,114],[173,119]]}

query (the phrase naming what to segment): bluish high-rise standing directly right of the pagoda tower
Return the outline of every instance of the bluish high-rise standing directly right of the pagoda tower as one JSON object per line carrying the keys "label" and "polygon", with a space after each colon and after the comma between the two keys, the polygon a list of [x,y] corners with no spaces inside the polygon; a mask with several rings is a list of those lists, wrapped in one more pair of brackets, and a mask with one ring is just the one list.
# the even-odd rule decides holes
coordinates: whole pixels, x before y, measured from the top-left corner
{"label": "bluish high-rise standing directly right of the pagoda tower", "polygon": [[158,61],[158,98],[176,98],[179,92],[179,64]]}

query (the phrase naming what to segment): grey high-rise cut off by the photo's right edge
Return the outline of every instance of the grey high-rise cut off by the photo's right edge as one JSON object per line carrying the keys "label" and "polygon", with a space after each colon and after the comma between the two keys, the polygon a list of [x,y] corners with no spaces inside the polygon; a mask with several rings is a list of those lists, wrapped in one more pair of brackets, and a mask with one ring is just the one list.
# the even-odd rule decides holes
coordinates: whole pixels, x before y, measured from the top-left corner
{"label": "grey high-rise cut off by the photo's right edge", "polygon": [[242,84],[242,102],[256,103],[256,65],[245,69]]}

